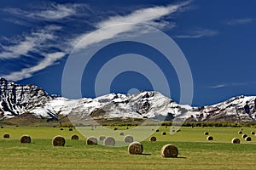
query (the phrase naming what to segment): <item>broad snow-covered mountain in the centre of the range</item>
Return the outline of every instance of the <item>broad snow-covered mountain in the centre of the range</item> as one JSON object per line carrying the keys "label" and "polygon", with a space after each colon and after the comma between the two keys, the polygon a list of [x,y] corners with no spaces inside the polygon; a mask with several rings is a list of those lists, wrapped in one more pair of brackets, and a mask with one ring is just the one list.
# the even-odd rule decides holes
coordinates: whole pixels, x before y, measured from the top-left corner
{"label": "broad snow-covered mountain in the centre of the range", "polygon": [[154,91],[132,95],[107,94],[96,99],[78,99],[70,102],[55,112],[67,114],[71,119],[76,120],[79,117],[83,120],[90,117],[93,119],[136,117],[172,120],[175,116],[184,116],[183,114],[192,109],[189,105],[177,105],[172,99]]}

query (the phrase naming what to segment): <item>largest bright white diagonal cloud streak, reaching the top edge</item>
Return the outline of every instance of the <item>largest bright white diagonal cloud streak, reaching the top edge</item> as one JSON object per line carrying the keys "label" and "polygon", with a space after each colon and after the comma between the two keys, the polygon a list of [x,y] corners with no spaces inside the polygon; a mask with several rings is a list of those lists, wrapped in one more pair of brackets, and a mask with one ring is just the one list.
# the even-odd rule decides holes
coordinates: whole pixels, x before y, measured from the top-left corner
{"label": "largest bright white diagonal cloud streak, reaching the top edge", "polygon": [[[124,16],[109,17],[108,20],[103,20],[96,24],[96,28],[101,29],[100,31],[97,32],[97,37],[90,39],[90,41],[79,42],[84,37],[90,35],[91,32],[82,33],[78,37],[74,38],[73,41],[71,41],[71,45],[74,47],[79,42],[79,47],[76,47],[76,48],[86,48],[89,45],[102,42],[104,40],[108,40],[113,37],[117,37],[121,33],[125,33],[131,30],[133,31],[139,30],[140,26],[138,26],[137,24],[147,24],[149,26],[155,26],[155,27],[166,26],[169,24],[169,22],[166,22],[165,20],[161,20],[161,18],[166,15],[177,12],[177,10],[179,10],[180,8],[183,8],[189,3],[190,1],[187,1],[185,3],[178,3],[175,5],[143,8],[143,9],[138,9],[132,12],[131,14],[127,14]],[[131,24],[131,25],[127,25],[127,24]],[[119,26],[108,29],[108,26],[116,26],[116,25],[119,25]],[[173,23],[171,25],[175,26]],[[144,33],[145,32],[147,31],[144,30]]]}

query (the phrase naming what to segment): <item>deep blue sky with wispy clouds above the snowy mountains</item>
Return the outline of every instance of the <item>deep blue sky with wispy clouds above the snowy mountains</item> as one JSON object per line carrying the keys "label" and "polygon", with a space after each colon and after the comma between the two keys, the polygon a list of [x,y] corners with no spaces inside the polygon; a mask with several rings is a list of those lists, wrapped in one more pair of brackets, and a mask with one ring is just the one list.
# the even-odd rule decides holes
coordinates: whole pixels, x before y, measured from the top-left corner
{"label": "deep blue sky with wispy clouds above the snowy mountains", "polygon": [[[91,32],[131,22],[157,28],[177,43],[193,77],[192,105],[256,95],[255,6],[253,0],[1,1],[0,77],[33,83],[49,94],[61,95],[62,73],[76,44]],[[136,29],[124,27],[119,34],[125,37]],[[103,33],[87,43],[96,46],[108,41],[109,35],[109,39],[119,35],[109,30]],[[113,43],[90,59],[79,84],[83,97],[96,96],[98,71],[121,54],[140,54],[154,61],[166,76],[172,99],[179,101],[177,70],[159,51],[137,42]],[[109,91],[126,94],[131,89],[154,90],[150,82],[143,73],[124,71],[113,79]]]}

